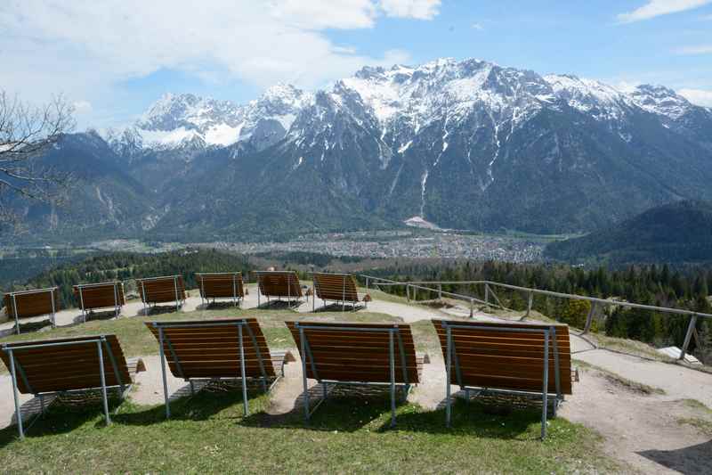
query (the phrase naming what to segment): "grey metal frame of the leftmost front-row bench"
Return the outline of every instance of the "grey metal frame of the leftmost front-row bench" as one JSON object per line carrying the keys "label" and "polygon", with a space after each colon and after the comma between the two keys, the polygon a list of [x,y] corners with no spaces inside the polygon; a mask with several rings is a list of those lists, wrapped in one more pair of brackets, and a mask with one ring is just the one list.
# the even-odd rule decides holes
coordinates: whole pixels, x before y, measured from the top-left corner
{"label": "grey metal frame of the leftmost front-row bench", "polygon": [[[22,369],[20,362],[15,361],[15,356],[14,356],[15,352],[22,351],[24,349],[49,348],[49,347],[69,347],[69,346],[73,346],[73,345],[86,345],[88,343],[96,343],[96,349],[97,349],[97,353],[99,356],[99,374],[101,375],[101,386],[96,387],[96,388],[68,389],[65,391],[50,391],[50,392],[36,393],[36,392],[32,391],[32,387],[29,384],[27,376],[25,375],[25,372]],[[121,398],[123,399],[125,397],[126,392],[129,389],[131,389],[131,387],[133,385],[131,381],[126,381],[126,384],[123,384],[123,381],[121,381],[121,373],[118,371],[117,358],[116,358],[116,356],[114,356],[113,351],[111,351],[111,346],[107,342],[106,336],[104,336],[104,335],[101,335],[101,336],[98,336],[96,338],[89,339],[89,340],[57,341],[57,342],[51,342],[51,343],[39,343],[36,345],[19,345],[19,343],[15,343],[14,345],[18,345],[18,346],[13,346],[12,343],[4,343],[3,346],[0,348],[2,348],[2,350],[5,353],[7,353],[8,357],[10,358],[10,373],[12,375],[12,395],[15,399],[15,417],[17,419],[17,427],[18,427],[18,432],[20,433],[20,438],[25,438],[25,430],[24,430],[24,427],[22,424],[22,414],[21,414],[21,410],[20,410],[20,390],[18,389],[18,384],[17,384],[17,374],[18,373],[20,373],[20,378],[22,378],[22,381],[25,383],[25,387],[29,390],[29,392],[32,393],[34,396],[39,397],[41,411],[37,417],[44,414],[44,411],[46,409],[44,407],[44,397],[45,396],[70,394],[70,393],[77,393],[77,392],[87,392],[87,391],[92,391],[95,389],[101,389],[101,399],[102,399],[103,407],[104,407],[104,418],[106,420],[106,425],[111,424],[111,418],[109,417],[109,397],[107,397],[107,390],[113,389],[113,388],[120,388],[121,389]],[[107,351],[109,354],[109,360],[111,361],[111,366],[114,370],[114,375],[116,376],[116,379],[119,382],[119,384],[117,384],[117,385],[113,385],[113,386],[106,385],[106,376],[104,374],[104,364],[103,364],[103,361],[104,361],[103,352],[104,351]],[[35,421],[33,421],[32,423],[34,423]],[[32,424],[30,424],[30,426],[31,425]],[[30,426],[28,426],[28,429]]]}

